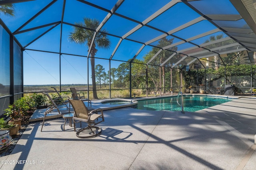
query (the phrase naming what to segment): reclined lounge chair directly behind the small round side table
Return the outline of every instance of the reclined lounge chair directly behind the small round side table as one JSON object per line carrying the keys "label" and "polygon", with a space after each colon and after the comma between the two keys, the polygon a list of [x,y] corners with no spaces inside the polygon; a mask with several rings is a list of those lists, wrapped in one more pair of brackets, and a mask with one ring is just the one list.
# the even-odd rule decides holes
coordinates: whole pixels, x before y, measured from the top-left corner
{"label": "reclined lounge chair directly behind the small round side table", "polygon": [[43,119],[43,123],[42,123],[42,128],[41,128],[41,132],[44,126],[44,121],[46,119],[46,117],[52,117],[52,118],[58,118],[61,117],[60,115],[64,115],[64,114],[68,114],[70,113],[70,108],[67,106],[67,104],[59,104],[57,105],[51,98],[51,96],[48,93],[42,93],[44,95],[46,95],[50,102],[52,103],[52,106],[49,106],[46,108],[46,111],[44,112],[44,119]]}

